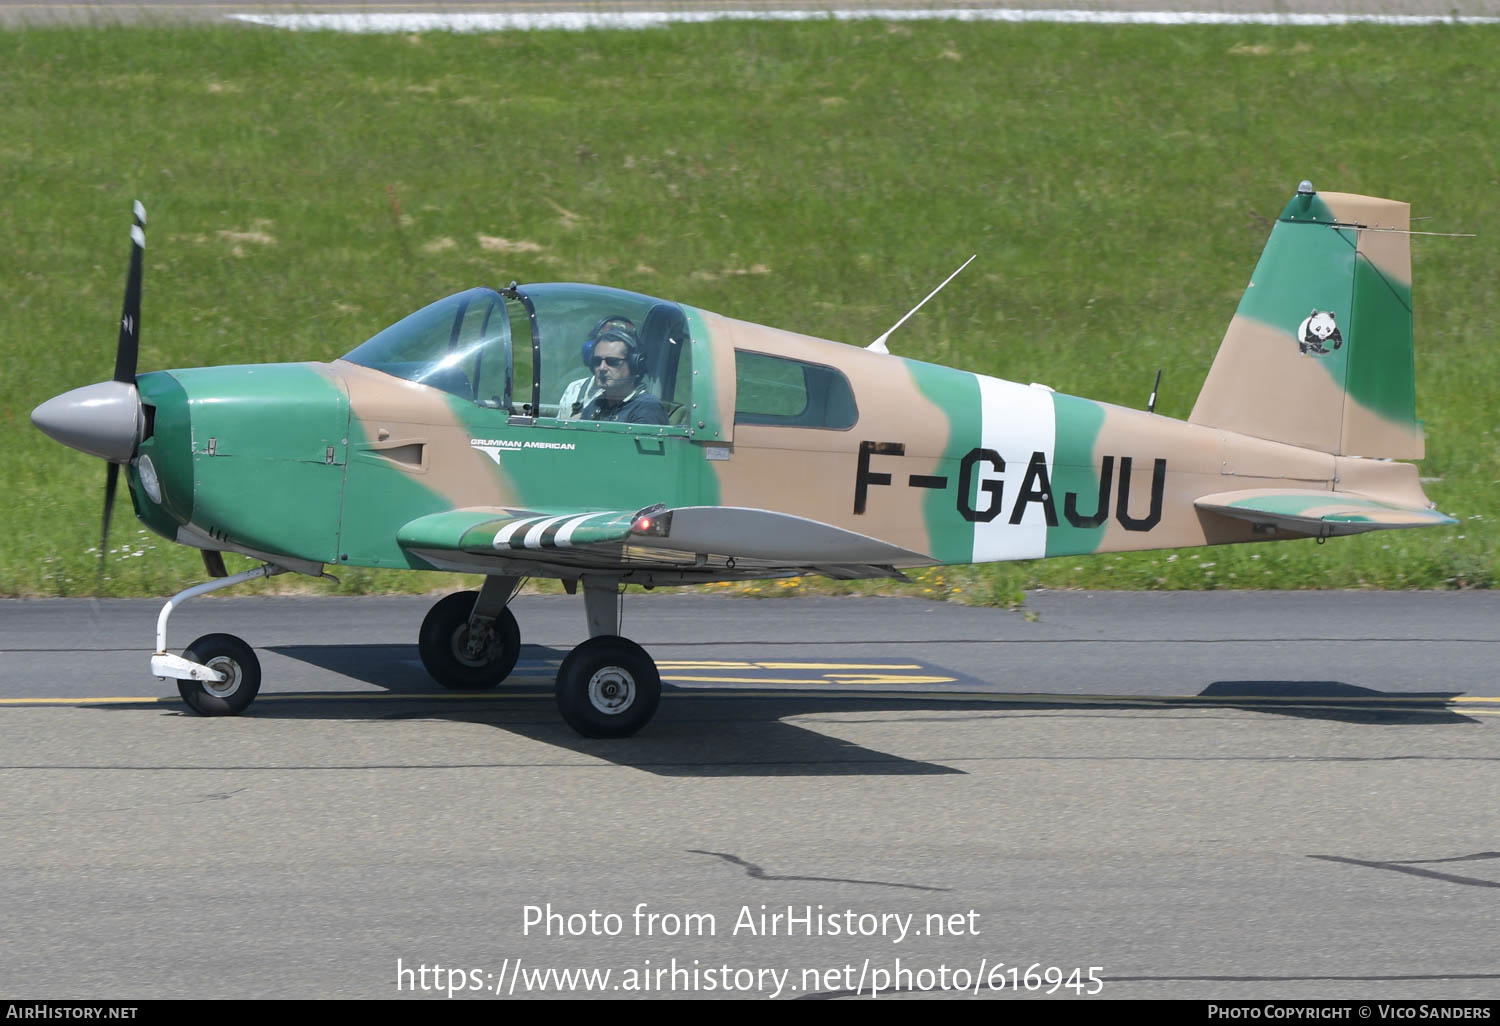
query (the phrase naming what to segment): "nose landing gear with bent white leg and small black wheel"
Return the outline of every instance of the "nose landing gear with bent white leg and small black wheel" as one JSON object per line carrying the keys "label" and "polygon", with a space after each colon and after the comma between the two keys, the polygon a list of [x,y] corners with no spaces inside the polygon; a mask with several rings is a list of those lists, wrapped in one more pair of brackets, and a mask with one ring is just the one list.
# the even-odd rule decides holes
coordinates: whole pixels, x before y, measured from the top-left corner
{"label": "nose landing gear with bent white leg and small black wheel", "polygon": [[250,646],[234,634],[204,634],[182,656],[170,656],[166,652],[166,621],[172,610],[189,598],[256,578],[273,578],[278,573],[286,573],[286,570],[266,564],[232,578],[219,578],[178,591],[162,606],[162,614],[156,618],[156,654],[152,656],[152,672],[164,680],[176,678],[177,692],[195,712],[202,716],[243,712],[261,690],[261,662]]}

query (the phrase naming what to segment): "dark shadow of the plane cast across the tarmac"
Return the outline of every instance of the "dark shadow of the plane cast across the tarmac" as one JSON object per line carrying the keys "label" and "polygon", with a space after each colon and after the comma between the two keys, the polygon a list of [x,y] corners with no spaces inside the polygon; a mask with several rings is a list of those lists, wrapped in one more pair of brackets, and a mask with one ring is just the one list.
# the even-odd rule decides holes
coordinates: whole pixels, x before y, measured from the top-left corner
{"label": "dark shadow of the plane cast across the tarmac", "polygon": [[[1448,702],[1456,692],[1378,692],[1342,681],[1215,681],[1191,698],[975,693],[922,696],[912,690],[860,696],[810,690],[663,688],[662,708],[651,726],[626,741],[578,736],[556,714],[550,675],[564,650],[522,645],[519,682],[465,696],[436,687],[422,669],[414,645],[282,645],[266,651],[315,666],[350,681],[402,696],[398,705],[372,704],[368,690],[297,693],[302,700],[278,702],[262,694],[249,716],[318,720],[450,720],[480,723],[561,750],[669,777],[777,776],[945,776],[952,766],[874,752],[789,718],[818,712],[858,718],[903,710],[1014,716],[1059,710],[1179,710],[1227,706],[1304,718],[1368,724],[1474,723]],[[495,700],[507,696],[507,700]],[[272,700],[266,700],[270,698]],[[430,699],[430,700],[423,700]],[[120,708],[120,706],[114,706]]]}

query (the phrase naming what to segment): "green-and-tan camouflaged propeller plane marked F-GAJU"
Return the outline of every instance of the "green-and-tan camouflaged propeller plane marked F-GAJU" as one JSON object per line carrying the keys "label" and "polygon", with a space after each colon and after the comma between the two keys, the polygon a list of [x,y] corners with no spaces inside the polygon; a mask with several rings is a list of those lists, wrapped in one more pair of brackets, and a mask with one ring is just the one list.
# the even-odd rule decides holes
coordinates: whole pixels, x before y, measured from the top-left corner
{"label": "green-and-tan camouflaged propeller plane marked F-GAJU", "polygon": [[[124,468],[136,518],[202,550],[210,580],[165,603],[150,668],[204,716],[243,712],[260,662],[222,633],[168,652],[171,612],[286,572],[483,574],[418,632],[458,690],[514,668],[524,580],[582,590],[558,710],[620,738],[662,693],[621,636],[628,584],[1455,524],[1400,462],[1424,454],[1406,202],[1304,182],[1185,422],[1155,393],[1142,411],[903,358],[890,332],[846,345],[578,284],[470,288],[332,363],[136,374],[144,231],[136,204],[114,378],[32,420],[108,460],[105,534]],[[224,552],[261,566],[228,576]]]}

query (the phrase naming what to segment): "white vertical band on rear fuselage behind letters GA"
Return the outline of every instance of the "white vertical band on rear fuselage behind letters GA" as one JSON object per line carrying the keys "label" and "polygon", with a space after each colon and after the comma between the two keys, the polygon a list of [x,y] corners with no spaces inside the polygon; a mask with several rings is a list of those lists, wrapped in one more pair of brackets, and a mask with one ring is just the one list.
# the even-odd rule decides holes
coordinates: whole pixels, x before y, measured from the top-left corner
{"label": "white vertical band on rear fuselage behind letters GA", "polygon": [[[1052,472],[1056,422],[1052,393],[1046,388],[1002,381],[980,380],[980,438],[1005,460],[1005,471],[996,472],[988,460],[975,465],[976,482],[1002,482],[999,513],[988,524],[974,525],[974,561],[1034,560],[1047,554],[1047,513],[1041,502],[1030,502],[1020,524],[1011,524],[1011,510],[1020,496],[1022,482],[1032,453],[1042,453]],[[990,495],[975,484],[975,508],[986,508]]]}

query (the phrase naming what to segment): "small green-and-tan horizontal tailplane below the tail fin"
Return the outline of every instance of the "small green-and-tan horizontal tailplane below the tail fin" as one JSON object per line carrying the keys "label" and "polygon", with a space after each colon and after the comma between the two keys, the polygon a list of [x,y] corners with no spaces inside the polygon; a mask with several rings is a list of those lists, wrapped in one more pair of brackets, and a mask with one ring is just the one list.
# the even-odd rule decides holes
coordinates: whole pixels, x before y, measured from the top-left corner
{"label": "small green-and-tan horizontal tailplane below the tail fin", "polygon": [[1192,504],[1200,510],[1250,520],[1257,526],[1323,537],[1458,524],[1432,508],[1383,502],[1353,492],[1252,488],[1244,492],[1204,495]]}

